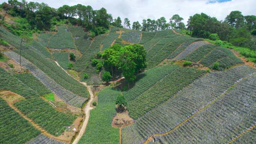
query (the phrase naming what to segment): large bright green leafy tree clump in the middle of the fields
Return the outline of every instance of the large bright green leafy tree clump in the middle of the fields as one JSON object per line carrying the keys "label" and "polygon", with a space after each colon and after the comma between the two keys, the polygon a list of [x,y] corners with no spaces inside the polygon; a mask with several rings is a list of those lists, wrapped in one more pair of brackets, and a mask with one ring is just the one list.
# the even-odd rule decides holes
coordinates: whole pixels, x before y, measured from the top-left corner
{"label": "large bright green leafy tree clump in the middle of the fields", "polygon": [[136,79],[135,74],[146,68],[146,51],[143,46],[134,44],[122,47],[113,45],[102,53],[105,69],[118,68],[128,82]]}

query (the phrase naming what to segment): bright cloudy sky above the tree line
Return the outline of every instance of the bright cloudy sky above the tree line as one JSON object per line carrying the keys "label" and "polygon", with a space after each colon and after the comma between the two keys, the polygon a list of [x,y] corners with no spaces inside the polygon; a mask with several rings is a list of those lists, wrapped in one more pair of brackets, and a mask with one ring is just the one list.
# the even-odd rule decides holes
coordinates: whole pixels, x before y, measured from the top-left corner
{"label": "bright cloudy sky above the tree line", "polygon": [[[8,0],[0,0],[0,3]],[[21,0],[19,0],[21,1]],[[189,16],[195,13],[206,13],[218,20],[224,20],[233,10],[239,10],[243,15],[256,15],[256,0],[27,0],[47,3],[58,8],[67,4],[69,6],[78,3],[90,5],[93,9],[104,7],[113,18],[129,18],[132,22],[142,22],[143,19],[158,19],[162,16],[167,21],[171,16],[179,14],[186,24]]]}

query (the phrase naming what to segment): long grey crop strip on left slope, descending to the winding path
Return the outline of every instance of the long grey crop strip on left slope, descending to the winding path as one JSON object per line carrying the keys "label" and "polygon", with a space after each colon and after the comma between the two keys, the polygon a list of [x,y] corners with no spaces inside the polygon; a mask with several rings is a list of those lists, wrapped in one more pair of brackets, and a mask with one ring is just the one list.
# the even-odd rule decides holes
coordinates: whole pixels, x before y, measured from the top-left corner
{"label": "long grey crop strip on left slope, descending to the winding path", "polygon": [[[15,52],[6,52],[11,58],[18,61],[18,54]],[[57,96],[63,99],[70,105],[75,107],[81,107],[82,104],[86,101],[87,98],[77,96],[70,91],[67,91],[65,88],[57,84],[51,77],[48,77],[43,71],[39,70],[33,64],[31,64],[27,59],[22,58],[23,66],[28,68],[28,70],[33,73],[33,75],[39,79],[48,89],[54,92]],[[63,70],[60,70],[63,71]],[[71,77],[70,77],[71,78]],[[72,78],[71,78],[72,79]],[[61,81],[61,79],[59,80]],[[73,87],[76,87],[75,85]],[[86,88],[84,87],[86,90]]]}

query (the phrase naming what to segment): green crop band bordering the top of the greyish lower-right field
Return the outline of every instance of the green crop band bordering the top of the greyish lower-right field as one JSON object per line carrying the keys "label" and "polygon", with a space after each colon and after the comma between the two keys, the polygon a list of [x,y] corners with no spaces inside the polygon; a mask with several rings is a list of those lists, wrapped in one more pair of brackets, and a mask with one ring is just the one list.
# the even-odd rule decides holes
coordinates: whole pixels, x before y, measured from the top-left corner
{"label": "green crop band bordering the top of the greyish lower-right field", "polygon": [[172,98],[194,80],[201,77],[205,72],[193,68],[177,68],[167,74],[164,79],[150,87],[143,94],[137,96],[127,105],[129,115],[138,119],[157,105]]}

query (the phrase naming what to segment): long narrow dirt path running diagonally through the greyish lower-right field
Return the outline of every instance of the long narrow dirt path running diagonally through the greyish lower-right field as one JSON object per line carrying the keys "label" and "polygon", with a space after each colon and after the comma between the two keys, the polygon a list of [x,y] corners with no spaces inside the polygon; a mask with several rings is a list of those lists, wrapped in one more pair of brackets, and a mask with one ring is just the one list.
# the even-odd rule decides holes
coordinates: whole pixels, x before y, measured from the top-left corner
{"label": "long narrow dirt path running diagonally through the greyish lower-right field", "polygon": [[[253,73],[256,74],[256,73]],[[189,116],[187,119],[183,120],[182,122],[180,122],[177,126],[175,126],[173,129],[171,129],[170,131],[161,133],[161,134],[154,134],[151,135],[149,138],[147,138],[147,140],[145,140],[142,144],[147,144],[150,141],[153,140],[153,138],[155,136],[164,136],[167,134],[170,134],[174,131],[176,131],[180,126],[184,125],[186,122],[188,122],[190,119],[192,119],[193,117],[195,117],[196,115],[198,115],[199,113],[201,113],[202,111],[204,111],[205,109],[207,109],[208,107],[210,107],[211,105],[213,105],[217,100],[221,99],[223,96],[225,96],[226,94],[228,94],[229,91],[231,91],[231,89],[237,85],[238,83],[240,83],[242,80],[244,79],[248,79],[250,76],[252,76],[253,74],[250,74],[249,76],[244,77],[243,79],[238,80],[237,82],[234,83],[234,85],[230,86],[225,92],[222,93],[222,95],[218,96],[217,98],[215,98],[213,101],[211,101],[210,103],[208,103],[207,105],[205,105],[204,107],[200,108],[198,111],[196,111],[196,113],[192,114],[191,116]]]}

